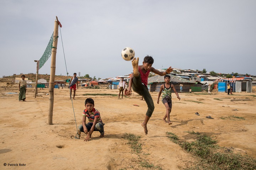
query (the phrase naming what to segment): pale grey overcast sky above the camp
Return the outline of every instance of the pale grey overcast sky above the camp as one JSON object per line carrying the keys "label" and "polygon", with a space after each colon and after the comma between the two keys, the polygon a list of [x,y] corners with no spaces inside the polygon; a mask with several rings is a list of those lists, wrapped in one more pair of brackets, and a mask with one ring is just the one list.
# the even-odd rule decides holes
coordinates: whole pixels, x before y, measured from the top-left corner
{"label": "pale grey overcast sky above the camp", "polygon": [[[256,75],[255,0],[1,0],[0,77],[36,73],[62,28],[55,75],[112,78],[132,73],[125,47],[153,67]],[[61,33],[61,34],[60,34]],[[50,74],[51,57],[39,69]]]}

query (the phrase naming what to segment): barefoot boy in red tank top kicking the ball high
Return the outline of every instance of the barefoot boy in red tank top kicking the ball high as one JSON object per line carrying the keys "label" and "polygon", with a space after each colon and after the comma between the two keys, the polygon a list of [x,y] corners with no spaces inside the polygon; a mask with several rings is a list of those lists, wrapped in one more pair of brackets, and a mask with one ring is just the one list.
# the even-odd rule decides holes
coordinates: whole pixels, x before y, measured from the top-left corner
{"label": "barefoot boy in red tank top kicking the ball high", "polygon": [[165,72],[159,72],[154,67],[152,67],[153,63],[154,59],[151,56],[144,57],[144,61],[140,66],[139,58],[137,58],[137,60],[136,58],[133,58],[133,74],[130,78],[127,92],[127,95],[129,95],[132,92],[133,88],[133,91],[137,92],[140,96],[143,96],[144,100],[146,101],[146,104],[148,105],[148,111],[146,112],[144,122],[141,124],[142,127],[144,128],[145,135],[148,134],[147,123],[155,109],[153,99],[147,87],[149,73],[153,72],[155,74],[163,76],[172,72],[171,67],[167,68]]}

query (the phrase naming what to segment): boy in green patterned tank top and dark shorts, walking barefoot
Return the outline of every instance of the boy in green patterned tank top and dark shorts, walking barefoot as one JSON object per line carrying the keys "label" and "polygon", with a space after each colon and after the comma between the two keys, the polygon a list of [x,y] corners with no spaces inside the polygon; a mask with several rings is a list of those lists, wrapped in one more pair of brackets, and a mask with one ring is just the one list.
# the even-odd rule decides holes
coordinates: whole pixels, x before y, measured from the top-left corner
{"label": "boy in green patterned tank top and dark shorts, walking barefoot", "polygon": [[[164,80],[165,80],[165,84],[162,84],[160,87],[157,103],[159,104],[159,98],[160,98],[161,94],[163,93],[162,103],[165,105],[165,108],[166,108],[166,114],[165,114],[163,120],[165,123],[168,123],[169,125],[171,125],[172,124],[170,121],[170,113],[171,113],[171,108],[172,108],[171,89],[173,89],[173,91],[175,92],[178,100],[180,100],[180,97],[178,96],[178,92],[176,91],[174,85],[170,84],[170,80],[171,80],[170,75],[165,75]],[[166,118],[167,118],[167,121],[166,121]]]}

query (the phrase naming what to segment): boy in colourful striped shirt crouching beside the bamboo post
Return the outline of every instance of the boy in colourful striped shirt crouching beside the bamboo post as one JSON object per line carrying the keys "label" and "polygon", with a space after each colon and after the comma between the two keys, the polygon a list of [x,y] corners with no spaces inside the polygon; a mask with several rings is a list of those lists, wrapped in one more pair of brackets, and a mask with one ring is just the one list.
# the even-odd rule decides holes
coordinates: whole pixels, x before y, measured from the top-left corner
{"label": "boy in colourful striped shirt crouching beside the bamboo post", "polygon": [[[104,123],[101,120],[100,112],[94,108],[94,100],[92,98],[87,98],[85,100],[85,110],[82,114],[82,125],[78,127],[78,138],[81,136],[81,132],[87,134],[84,141],[90,141],[91,134],[94,131],[100,132],[100,137],[104,137]],[[86,117],[88,118],[88,123],[86,124]]]}

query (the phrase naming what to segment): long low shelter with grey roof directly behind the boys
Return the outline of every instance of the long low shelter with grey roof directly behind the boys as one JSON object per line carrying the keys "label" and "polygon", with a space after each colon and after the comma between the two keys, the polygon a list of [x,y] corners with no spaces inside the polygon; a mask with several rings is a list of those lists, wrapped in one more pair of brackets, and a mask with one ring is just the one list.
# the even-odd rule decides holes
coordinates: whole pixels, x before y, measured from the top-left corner
{"label": "long low shelter with grey roof directly behind the boys", "polygon": [[[201,92],[201,84],[196,83],[196,81],[193,80],[186,80],[181,77],[171,75],[171,83],[174,84],[174,87],[177,92],[180,91],[180,84],[183,85],[183,92],[189,92],[189,89],[191,88],[192,91],[200,91]],[[150,92],[159,92],[160,87],[162,84],[164,84],[164,76],[155,75],[153,77],[148,78],[148,88]]]}

